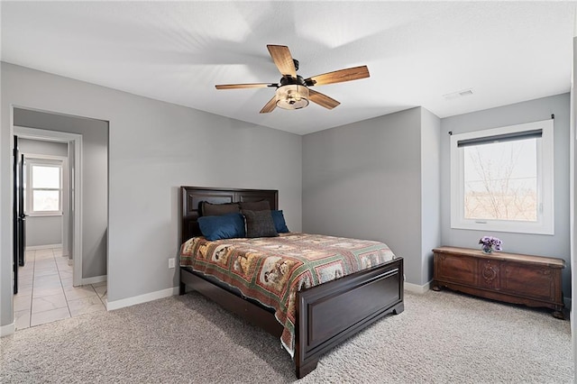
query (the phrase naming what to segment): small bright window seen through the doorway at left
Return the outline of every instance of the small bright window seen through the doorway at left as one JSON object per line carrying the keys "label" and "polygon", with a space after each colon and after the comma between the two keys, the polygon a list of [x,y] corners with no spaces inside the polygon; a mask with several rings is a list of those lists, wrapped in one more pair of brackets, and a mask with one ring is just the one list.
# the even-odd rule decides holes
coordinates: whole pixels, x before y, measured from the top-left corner
{"label": "small bright window seen through the doorway at left", "polygon": [[62,161],[26,158],[24,210],[29,215],[62,214]]}

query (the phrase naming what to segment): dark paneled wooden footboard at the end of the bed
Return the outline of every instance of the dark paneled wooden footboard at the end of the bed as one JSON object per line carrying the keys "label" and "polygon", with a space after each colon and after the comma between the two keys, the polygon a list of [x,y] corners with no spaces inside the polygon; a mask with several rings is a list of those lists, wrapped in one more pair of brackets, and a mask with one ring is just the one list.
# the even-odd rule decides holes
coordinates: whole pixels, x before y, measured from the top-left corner
{"label": "dark paneled wooden footboard at the end of the bed", "polygon": [[336,344],[403,309],[402,258],[298,292],[298,379],[315,370],[319,357]]}

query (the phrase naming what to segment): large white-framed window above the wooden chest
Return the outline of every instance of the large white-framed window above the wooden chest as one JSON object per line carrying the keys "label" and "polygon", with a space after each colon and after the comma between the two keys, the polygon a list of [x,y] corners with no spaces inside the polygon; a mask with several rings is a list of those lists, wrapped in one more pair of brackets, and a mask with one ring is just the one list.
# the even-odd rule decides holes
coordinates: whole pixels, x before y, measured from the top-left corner
{"label": "large white-framed window above the wooden chest", "polygon": [[554,234],[553,127],[451,136],[451,227]]}

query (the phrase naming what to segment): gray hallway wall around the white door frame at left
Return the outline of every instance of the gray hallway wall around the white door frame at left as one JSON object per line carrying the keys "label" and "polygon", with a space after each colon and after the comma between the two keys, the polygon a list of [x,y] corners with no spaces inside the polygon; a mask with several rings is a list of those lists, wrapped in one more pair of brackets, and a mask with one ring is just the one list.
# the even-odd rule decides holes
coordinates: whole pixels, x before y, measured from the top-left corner
{"label": "gray hallway wall around the white door frame at left", "polygon": [[14,108],[14,125],[82,135],[82,279],[106,275],[108,123]]}

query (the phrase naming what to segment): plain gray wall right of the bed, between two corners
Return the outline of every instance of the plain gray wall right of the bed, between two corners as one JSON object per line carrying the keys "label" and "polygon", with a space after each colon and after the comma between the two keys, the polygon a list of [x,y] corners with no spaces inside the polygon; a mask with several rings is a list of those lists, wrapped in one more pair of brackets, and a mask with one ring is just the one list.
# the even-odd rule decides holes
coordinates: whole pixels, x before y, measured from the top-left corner
{"label": "plain gray wall right of the bed, between two corners", "polygon": [[303,230],[386,242],[422,279],[421,108],[303,136]]}

